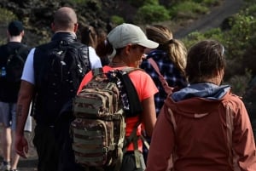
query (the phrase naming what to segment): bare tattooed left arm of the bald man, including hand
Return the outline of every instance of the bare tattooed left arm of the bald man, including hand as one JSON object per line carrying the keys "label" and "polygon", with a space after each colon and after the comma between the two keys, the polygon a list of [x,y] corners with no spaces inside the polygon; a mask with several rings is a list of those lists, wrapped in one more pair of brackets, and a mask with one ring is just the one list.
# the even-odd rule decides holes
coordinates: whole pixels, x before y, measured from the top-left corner
{"label": "bare tattooed left arm of the bald man, including hand", "polygon": [[34,85],[26,81],[21,81],[20,92],[17,102],[17,123],[15,131],[15,150],[20,157],[25,157],[28,152],[27,140],[24,137],[24,127],[29,112],[29,106],[34,94]]}

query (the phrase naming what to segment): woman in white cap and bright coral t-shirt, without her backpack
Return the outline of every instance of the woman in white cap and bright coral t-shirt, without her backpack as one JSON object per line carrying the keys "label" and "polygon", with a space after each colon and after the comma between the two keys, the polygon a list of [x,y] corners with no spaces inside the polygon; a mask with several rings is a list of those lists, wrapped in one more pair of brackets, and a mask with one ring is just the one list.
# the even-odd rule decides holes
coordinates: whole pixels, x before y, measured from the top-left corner
{"label": "woman in white cap and bright coral t-shirt, without her backpack", "polygon": [[[108,33],[107,39],[99,44],[102,48],[100,51],[96,51],[99,56],[109,56],[110,63],[108,66],[103,67],[103,71],[112,71],[113,69],[124,69],[125,67],[137,67],[138,62],[143,58],[146,48],[156,48],[158,43],[148,40],[144,32],[140,27],[131,24],[121,24],[113,28]],[[156,121],[156,115],[154,110],[154,94],[158,92],[154,85],[153,80],[144,71],[137,70],[132,71],[129,74],[131,82],[134,84],[141,105],[143,106],[143,112],[135,117],[128,117],[126,121],[126,136],[131,134],[132,129],[137,122],[143,123],[143,126],[150,136],[152,134],[154,123]],[[92,78],[92,73],[89,72],[85,75],[82,83],[79,86],[78,93],[82,90]],[[139,105],[139,104],[137,104]],[[141,119],[141,121],[140,121]],[[137,127],[137,136],[141,134],[141,124]],[[122,165],[119,170],[122,171],[134,171],[144,170],[143,161],[143,142],[141,139],[137,141],[140,161],[135,160],[135,145],[133,143],[125,147],[125,154],[123,157]],[[137,164],[140,165],[137,168]],[[90,168],[94,170],[94,168]],[[103,168],[103,170],[113,170],[113,168]]]}

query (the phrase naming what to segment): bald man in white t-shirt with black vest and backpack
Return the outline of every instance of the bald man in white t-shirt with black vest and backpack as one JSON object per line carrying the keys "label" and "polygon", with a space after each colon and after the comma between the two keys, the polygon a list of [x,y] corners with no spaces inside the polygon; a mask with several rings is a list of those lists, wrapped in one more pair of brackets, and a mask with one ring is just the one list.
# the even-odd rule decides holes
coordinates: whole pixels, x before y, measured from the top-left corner
{"label": "bald man in white t-shirt with black vest and backpack", "polygon": [[51,24],[55,34],[49,43],[32,48],[21,77],[15,149],[26,158],[28,144],[22,130],[34,100],[38,171],[83,170],[74,162],[69,136],[72,99],[84,74],[102,64],[99,58],[88,56],[90,48],[77,40],[78,26],[73,9],[58,9]]}

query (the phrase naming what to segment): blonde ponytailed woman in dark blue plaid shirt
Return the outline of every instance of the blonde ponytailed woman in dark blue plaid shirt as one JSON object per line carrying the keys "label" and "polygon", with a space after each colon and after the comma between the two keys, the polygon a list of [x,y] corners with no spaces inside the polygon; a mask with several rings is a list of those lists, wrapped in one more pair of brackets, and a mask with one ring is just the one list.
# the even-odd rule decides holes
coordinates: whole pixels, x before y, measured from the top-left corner
{"label": "blonde ponytailed woman in dark blue plaid shirt", "polygon": [[[159,89],[159,92],[154,95],[155,112],[156,116],[158,116],[160,108],[164,104],[167,94],[170,92],[165,91],[159,75],[157,71],[154,70],[149,59],[153,60],[158,66],[160,74],[165,78],[166,83],[168,83],[170,88],[175,88],[175,90],[185,88],[188,85],[184,71],[187,59],[187,48],[185,48],[181,41],[173,38],[172,31],[166,26],[147,26],[146,35],[149,40],[160,44],[157,48],[148,49],[147,58],[143,60],[143,63],[140,66],[150,75],[150,77],[152,77],[156,87]],[[150,144],[150,139],[146,134],[145,138],[148,140],[148,144]],[[148,149],[144,145],[143,156],[145,161],[147,161],[147,155]]]}

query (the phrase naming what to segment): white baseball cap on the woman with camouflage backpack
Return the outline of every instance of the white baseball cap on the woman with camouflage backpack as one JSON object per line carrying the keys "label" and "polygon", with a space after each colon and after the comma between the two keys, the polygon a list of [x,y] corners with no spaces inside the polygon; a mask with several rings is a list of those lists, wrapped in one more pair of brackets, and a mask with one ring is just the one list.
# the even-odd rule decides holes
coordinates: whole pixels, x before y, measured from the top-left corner
{"label": "white baseball cap on the woman with camouflage backpack", "polygon": [[139,44],[145,48],[157,48],[159,43],[148,40],[143,30],[135,25],[121,24],[108,33],[113,48],[124,48],[127,44]]}

